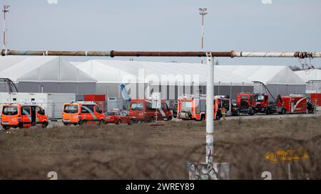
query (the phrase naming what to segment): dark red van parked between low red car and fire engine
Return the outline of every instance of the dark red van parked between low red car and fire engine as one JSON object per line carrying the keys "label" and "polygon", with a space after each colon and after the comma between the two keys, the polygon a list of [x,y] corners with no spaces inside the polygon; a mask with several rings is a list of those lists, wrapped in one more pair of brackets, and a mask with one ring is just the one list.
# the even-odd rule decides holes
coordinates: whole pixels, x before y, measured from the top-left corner
{"label": "dark red van parked between low red car and fire engine", "polygon": [[153,122],[156,120],[171,120],[172,112],[165,100],[161,100],[161,109],[153,109],[151,99],[131,99],[129,116],[135,122]]}

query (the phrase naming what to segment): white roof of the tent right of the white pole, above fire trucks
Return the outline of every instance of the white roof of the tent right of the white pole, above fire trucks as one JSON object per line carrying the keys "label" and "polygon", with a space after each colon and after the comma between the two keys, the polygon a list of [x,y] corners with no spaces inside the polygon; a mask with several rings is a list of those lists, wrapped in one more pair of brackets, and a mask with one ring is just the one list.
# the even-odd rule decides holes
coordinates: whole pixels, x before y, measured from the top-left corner
{"label": "white roof of the tent right of the white pole, above fire trucks", "polygon": [[287,66],[280,65],[219,65],[219,69],[243,76],[265,85],[305,85],[305,82]]}

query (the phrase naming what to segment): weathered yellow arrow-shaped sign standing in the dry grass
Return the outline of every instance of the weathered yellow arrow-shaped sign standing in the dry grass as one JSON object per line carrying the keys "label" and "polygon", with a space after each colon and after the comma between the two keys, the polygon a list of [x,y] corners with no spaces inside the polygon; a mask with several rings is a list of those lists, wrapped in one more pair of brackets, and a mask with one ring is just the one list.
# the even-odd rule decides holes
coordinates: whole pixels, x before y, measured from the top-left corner
{"label": "weathered yellow arrow-shaped sign standing in the dry grass", "polygon": [[272,163],[307,160],[308,157],[304,149],[279,150],[265,154],[265,159]]}

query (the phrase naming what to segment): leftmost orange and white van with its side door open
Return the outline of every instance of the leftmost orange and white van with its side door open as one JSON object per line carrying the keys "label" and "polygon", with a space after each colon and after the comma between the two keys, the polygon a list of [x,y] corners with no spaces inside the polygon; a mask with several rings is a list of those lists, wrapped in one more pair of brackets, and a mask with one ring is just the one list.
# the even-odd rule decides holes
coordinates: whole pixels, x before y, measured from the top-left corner
{"label": "leftmost orange and white van with its side door open", "polygon": [[49,119],[42,107],[36,104],[4,104],[1,125],[4,129],[41,126],[46,128]]}

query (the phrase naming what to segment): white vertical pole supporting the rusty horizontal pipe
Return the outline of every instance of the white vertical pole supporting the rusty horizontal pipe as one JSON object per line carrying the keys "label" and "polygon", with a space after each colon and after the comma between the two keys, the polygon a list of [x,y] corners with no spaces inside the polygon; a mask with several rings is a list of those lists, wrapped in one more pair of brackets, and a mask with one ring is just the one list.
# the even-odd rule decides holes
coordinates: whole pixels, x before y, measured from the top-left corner
{"label": "white vertical pole supporting the rusty horizontal pipe", "polygon": [[207,83],[206,83],[206,163],[213,163],[214,151],[214,58],[212,53],[207,56]]}

